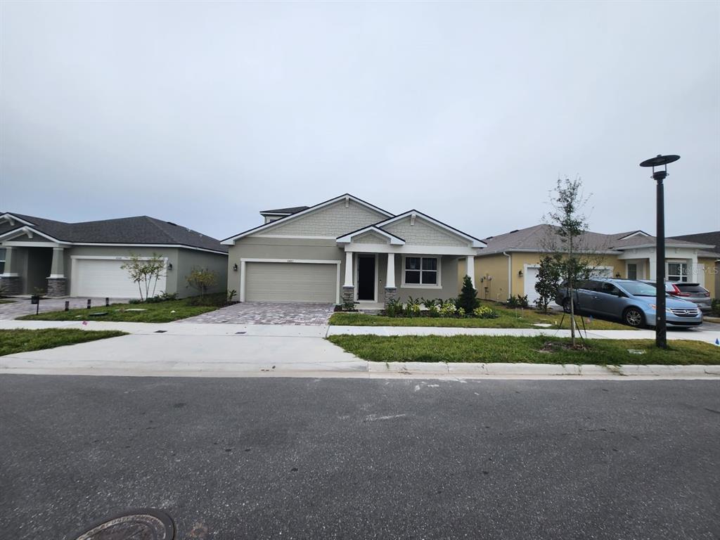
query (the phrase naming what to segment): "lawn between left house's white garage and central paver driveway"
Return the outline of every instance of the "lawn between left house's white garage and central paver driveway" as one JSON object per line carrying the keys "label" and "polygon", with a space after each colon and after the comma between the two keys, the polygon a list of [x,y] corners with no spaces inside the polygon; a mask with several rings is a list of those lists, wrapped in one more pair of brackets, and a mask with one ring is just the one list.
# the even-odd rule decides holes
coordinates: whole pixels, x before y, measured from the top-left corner
{"label": "lawn between left house's white garage and central paver driveway", "polygon": [[[69,311],[48,311],[40,315],[25,315],[19,320],[112,320],[124,323],[170,323],[217,310],[215,306],[189,305],[191,300],[168,300],[154,304],[112,304],[110,307],[91,307]],[[128,310],[144,311],[128,311]],[[107,315],[93,315],[106,313]]]}

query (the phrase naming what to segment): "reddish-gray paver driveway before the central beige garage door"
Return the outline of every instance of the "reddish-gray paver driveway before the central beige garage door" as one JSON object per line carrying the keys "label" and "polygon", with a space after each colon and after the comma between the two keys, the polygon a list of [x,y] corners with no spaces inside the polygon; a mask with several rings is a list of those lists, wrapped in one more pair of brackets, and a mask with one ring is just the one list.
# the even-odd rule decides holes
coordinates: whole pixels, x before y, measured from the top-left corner
{"label": "reddish-gray paver driveway before the central beige garage door", "polygon": [[333,304],[301,302],[241,302],[179,321],[179,323],[230,323],[246,325],[325,325]]}

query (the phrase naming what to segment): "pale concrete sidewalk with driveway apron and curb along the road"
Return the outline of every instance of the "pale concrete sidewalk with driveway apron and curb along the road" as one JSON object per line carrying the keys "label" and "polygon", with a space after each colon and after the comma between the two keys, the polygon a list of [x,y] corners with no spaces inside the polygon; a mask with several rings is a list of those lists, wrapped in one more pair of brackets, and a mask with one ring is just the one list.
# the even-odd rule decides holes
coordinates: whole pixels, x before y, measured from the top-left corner
{"label": "pale concrete sidewalk with driveway apron and curb along the road", "polygon": [[[83,374],[176,377],[400,377],[400,378],[716,378],[720,366],[558,366],[554,364],[444,364],[364,361],[324,338],[328,334],[445,336],[564,336],[566,330],[401,328],[228,323],[112,323],[0,321],[0,329],[123,330],[121,336],[43,351],[0,356],[0,374]],[[715,339],[708,332],[669,333],[670,339]],[[720,337],[720,333],[717,337]],[[652,338],[647,330],[603,330],[591,338]],[[720,347],[719,347],[720,354]]]}

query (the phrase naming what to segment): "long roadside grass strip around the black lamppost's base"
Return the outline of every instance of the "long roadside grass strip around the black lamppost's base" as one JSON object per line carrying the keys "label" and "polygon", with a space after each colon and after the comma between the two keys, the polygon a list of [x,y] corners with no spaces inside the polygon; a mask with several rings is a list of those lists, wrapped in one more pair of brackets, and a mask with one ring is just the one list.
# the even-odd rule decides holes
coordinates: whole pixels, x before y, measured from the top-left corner
{"label": "long roadside grass strip around the black lamppost's base", "polygon": [[[666,351],[647,339],[580,341],[547,336],[330,336],[328,340],[364,360],[380,362],[526,362],[531,364],[720,364],[720,347],[700,341],[670,341]],[[644,351],[631,354],[628,349]]]}

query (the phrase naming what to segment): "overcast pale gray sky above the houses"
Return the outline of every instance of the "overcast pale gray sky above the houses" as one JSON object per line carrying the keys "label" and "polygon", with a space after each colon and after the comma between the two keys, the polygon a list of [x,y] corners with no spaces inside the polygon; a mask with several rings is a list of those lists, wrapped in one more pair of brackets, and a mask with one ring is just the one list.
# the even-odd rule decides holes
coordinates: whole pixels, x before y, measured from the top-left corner
{"label": "overcast pale gray sky above the houses", "polygon": [[[0,210],[225,238],[350,192],[485,238],[720,229],[720,2],[0,3]],[[590,211],[591,210],[591,211]]]}

